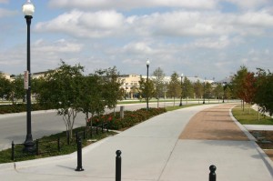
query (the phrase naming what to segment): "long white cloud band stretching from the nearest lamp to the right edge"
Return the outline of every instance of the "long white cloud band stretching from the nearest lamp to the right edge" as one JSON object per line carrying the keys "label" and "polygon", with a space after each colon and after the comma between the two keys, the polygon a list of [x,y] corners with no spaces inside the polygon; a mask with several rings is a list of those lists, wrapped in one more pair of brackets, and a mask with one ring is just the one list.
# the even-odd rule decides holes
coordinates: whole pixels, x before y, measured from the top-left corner
{"label": "long white cloud band stretching from the nearest lamp to the right edge", "polygon": [[267,11],[244,14],[175,11],[126,17],[116,11],[83,12],[73,10],[35,25],[39,32],[57,32],[76,37],[104,38],[126,36],[211,36],[262,35],[273,26]]}

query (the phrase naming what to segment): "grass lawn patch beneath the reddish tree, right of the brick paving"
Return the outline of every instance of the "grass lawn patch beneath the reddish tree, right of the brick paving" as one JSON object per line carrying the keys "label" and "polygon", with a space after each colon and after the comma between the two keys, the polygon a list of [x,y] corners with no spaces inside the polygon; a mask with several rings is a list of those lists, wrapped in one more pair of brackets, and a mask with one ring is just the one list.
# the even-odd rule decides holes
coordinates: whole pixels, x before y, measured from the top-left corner
{"label": "grass lawn patch beneath the reddish tree, right of the brick paving", "polygon": [[258,112],[249,105],[245,106],[245,111],[243,111],[241,106],[234,107],[232,114],[242,125],[273,125],[272,117],[259,114],[258,120]]}

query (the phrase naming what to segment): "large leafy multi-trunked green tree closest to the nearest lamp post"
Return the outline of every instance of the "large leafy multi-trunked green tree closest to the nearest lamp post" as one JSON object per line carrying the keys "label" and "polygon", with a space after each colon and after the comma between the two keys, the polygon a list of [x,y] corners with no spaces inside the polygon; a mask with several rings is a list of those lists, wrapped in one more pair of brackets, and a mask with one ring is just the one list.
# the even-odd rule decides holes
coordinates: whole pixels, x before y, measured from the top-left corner
{"label": "large leafy multi-trunked green tree closest to the nearest lamp post", "polygon": [[81,110],[78,98],[83,72],[83,66],[66,65],[61,61],[61,65],[56,70],[45,74],[45,81],[38,97],[39,103],[50,104],[57,108],[57,115],[63,116],[66,133],[71,138],[76,114]]}

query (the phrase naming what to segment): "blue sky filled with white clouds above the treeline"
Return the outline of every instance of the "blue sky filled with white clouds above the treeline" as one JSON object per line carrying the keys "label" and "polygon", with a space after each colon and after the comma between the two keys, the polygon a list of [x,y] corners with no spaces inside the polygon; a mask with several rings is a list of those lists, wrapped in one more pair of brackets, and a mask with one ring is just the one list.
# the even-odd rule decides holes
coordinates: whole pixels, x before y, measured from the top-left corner
{"label": "blue sky filled with white clouds above the treeline", "polygon": [[[0,72],[26,69],[26,0],[0,0]],[[273,72],[272,0],[32,0],[31,72],[68,65],[85,73],[221,80],[245,65]]]}

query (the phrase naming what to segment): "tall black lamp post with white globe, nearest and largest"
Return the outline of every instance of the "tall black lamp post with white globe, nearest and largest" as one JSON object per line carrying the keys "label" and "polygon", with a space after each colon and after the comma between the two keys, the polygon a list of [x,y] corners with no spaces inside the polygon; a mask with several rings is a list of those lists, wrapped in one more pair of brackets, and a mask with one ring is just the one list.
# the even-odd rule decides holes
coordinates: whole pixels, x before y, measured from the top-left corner
{"label": "tall black lamp post with white globe, nearest and largest", "polygon": [[25,72],[25,89],[26,89],[26,137],[25,137],[25,152],[32,152],[35,150],[35,143],[32,138],[31,133],[31,72],[30,72],[30,24],[32,15],[35,12],[35,6],[27,0],[25,5],[23,5],[23,13],[25,15],[26,25],[27,25],[27,47],[26,47],[26,67]]}

